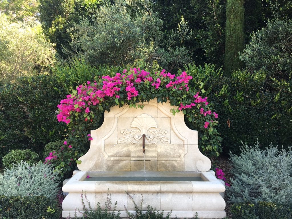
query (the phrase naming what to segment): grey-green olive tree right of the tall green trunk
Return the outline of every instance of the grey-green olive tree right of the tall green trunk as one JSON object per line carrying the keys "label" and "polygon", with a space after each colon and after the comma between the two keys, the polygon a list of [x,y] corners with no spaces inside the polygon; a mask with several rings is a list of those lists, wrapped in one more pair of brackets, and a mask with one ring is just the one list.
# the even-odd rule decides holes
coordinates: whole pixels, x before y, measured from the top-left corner
{"label": "grey-green olive tree right of the tall green trunk", "polygon": [[263,69],[270,77],[289,79],[292,73],[292,21],[274,18],[251,34],[239,56],[250,71]]}

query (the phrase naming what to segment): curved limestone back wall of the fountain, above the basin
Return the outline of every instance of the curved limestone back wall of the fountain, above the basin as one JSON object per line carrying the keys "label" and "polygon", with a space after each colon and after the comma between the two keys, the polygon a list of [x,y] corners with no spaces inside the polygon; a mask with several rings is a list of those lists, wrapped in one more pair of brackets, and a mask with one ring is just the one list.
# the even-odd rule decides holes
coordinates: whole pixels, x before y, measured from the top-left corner
{"label": "curved limestone back wall of the fountain, above the basin", "polygon": [[125,105],[105,112],[102,126],[91,131],[93,140],[79,158],[79,170],[142,171],[144,160],[147,171],[210,170],[211,161],[198,148],[198,133],[186,126],[182,112],[173,115],[169,102],[140,105],[143,109]]}

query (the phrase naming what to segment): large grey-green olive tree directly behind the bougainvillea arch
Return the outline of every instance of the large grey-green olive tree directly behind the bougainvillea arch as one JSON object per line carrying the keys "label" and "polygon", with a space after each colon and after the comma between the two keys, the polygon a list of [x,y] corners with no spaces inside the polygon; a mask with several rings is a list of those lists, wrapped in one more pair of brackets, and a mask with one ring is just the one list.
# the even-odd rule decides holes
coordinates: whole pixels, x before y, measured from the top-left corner
{"label": "large grey-green olive tree directly behind the bougainvillea arch", "polygon": [[147,0],[106,1],[92,10],[89,18],[80,17],[68,31],[72,41],[64,52],[91,65],[126,65],[142,59],[157,60],[171,70],[192,60],[183,46],[192,34],[187,22],[182,18],[177,29],[165,38],[162,20]]}

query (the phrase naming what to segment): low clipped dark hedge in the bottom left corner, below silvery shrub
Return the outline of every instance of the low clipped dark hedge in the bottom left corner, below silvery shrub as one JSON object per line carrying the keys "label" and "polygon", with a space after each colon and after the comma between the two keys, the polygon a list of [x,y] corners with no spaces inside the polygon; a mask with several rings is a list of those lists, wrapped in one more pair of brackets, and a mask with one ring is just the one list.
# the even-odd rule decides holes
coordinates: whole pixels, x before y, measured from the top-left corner
{"label": "low clipped dark hedge in the bottom left corner, below silvery shrub", "polygon": [[42,196],[0,196],[2,219],[60,219],[61,210],[55,199]]}

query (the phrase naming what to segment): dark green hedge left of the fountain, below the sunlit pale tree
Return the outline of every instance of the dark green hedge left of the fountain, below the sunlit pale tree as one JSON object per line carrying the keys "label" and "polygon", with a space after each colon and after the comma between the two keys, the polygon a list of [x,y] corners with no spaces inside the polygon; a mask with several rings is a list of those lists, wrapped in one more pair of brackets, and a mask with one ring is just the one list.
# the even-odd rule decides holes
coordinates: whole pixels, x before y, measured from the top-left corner
{"label": "dark green hedge left of the fountain, below the sunlit pale tree", "polygon": [[13,149],[40,155],[48,142],[62,139],[65,126],[58,123],[55,110],[65,93],[50,75],[0,86],[0,159]]}

